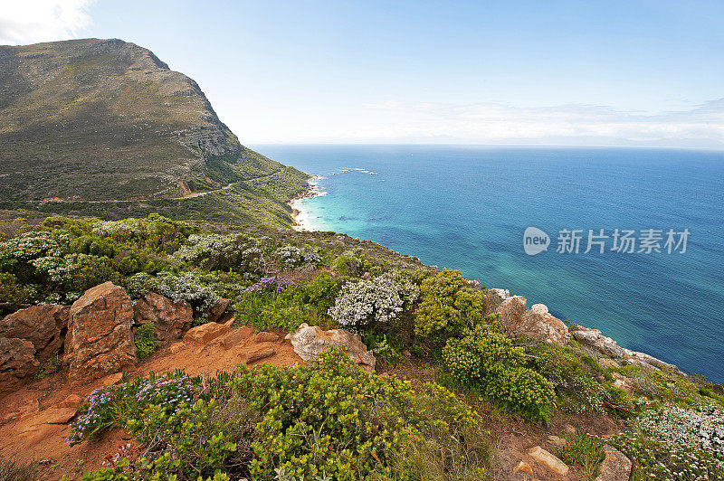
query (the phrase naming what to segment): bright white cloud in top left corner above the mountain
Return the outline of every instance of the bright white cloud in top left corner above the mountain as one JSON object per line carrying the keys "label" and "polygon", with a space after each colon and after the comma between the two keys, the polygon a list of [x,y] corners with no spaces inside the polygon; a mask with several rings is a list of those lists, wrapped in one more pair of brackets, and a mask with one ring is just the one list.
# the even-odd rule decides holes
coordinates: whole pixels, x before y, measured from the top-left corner
{"label": "bright white cloud in top left corner above the mountain", "polygon": [[76,38],[90,25],[94,0],[3,0],[0,45],[23,45]]}

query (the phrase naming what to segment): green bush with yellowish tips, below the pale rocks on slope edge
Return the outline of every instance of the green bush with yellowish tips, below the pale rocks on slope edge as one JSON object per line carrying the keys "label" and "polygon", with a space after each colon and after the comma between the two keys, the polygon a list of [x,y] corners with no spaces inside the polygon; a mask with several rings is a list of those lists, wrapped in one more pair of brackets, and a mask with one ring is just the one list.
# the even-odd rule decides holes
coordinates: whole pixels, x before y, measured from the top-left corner
{"label": "green bush with yellowish tips, below the pale rocks on slope edge", "polygon": [[556,397],[553,384],[526,367],[524,355],[494,324],[476,325],[443,348],[443,362],[455,382],[472,385],[488,400],[529,419],[548,421]]}

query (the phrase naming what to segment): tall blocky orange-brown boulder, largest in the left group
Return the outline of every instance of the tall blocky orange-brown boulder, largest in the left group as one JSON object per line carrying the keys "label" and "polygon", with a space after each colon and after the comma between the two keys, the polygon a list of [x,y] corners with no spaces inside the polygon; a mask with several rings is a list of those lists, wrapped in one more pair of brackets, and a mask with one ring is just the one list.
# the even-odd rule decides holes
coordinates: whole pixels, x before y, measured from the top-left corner
{"label": "tall blocky orange-brown boulder, largest in the left group", "polygon": [[72,383],[99,379],[136,363],[133,304],[112,282],[88,289],[71,306],[65,363]]}

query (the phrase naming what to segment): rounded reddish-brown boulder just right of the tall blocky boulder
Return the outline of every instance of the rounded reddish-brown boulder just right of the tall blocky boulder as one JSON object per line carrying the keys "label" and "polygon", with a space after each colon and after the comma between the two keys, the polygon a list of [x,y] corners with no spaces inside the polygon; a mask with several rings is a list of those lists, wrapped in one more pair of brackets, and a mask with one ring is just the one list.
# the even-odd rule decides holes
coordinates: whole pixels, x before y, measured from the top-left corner
{"label": "rounded reddish-brown boulder just right of the tall blocky boulder", "polygon": [[136,325],[153,323],[159,341],[178,339],[194,322],[194,311],[186,301],[174,302],[168,297],[149,292],[133,305]]}

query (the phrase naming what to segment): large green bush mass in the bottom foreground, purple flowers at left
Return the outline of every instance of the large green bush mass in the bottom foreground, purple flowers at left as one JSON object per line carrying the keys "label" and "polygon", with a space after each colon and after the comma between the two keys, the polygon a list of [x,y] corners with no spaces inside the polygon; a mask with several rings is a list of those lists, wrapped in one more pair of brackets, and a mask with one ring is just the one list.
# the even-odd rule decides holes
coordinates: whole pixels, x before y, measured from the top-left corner
{"label": "large green bush mass in the bottom foreground, purple flowers at left", "polygon": [[137,379],[87,406],[76,442],[125,420],[148,444],[137,462],[84,479],[472,480],[490,451],[480,417],[451,392],[370,376],[336,351],[295,368],[240,366],[204,389],[180,374]]}

